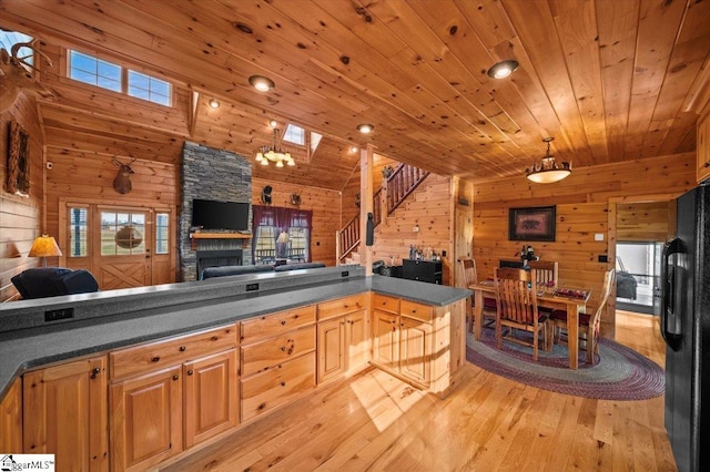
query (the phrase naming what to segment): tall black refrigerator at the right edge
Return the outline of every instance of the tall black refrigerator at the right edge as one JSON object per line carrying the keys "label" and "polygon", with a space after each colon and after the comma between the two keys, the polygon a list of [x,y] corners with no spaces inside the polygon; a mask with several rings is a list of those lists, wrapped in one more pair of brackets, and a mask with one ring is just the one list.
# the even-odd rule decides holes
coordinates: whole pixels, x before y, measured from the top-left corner
{"label": "tall black refrigerator at the right edge", "polygon": [[710,470],[710,185],[677,201],[661,256],[666,430],[681,472]]}

